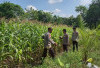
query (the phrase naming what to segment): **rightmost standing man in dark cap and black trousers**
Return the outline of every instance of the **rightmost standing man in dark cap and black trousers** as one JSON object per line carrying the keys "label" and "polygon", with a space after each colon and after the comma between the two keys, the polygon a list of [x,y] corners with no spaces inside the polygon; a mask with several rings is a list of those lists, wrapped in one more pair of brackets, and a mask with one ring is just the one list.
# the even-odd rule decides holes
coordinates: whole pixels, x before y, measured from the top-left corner
{"label": "rightmost standing man in dark cap and black trousers", "polygon": [[73,42],[73,52],[76,50],[78,51],[78,39],[79,39],[79,34],[76,31],[76,27],[73,27],[73,33],[72,33],[72,42]]}

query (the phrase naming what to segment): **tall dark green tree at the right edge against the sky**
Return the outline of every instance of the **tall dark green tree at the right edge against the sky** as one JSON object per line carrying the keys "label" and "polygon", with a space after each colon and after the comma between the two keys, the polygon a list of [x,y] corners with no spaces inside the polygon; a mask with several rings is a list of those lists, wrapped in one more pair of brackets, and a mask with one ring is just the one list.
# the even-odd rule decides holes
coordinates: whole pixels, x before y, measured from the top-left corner
{"label": "tall dark green tree at the right edge against the sky", "polygon": [[100,23],[100,0],[94,0],[87,11],[86,22],[90,28],[96,28]]}

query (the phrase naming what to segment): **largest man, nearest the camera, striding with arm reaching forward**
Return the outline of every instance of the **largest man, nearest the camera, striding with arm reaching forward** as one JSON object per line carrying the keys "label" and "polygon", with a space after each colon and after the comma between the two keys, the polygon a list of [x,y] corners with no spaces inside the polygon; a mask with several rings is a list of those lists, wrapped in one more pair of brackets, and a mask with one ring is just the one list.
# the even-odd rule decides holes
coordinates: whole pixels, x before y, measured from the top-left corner
{"label": "largest man, nearest the camera, striding with arm reaching forward", "polygon": [[52,28],[48,28],[48,32],[45,33],[43,39],[44,39],[44,52],[43,52],[43,59],[47,56],[47,51],[49,51],[49,54],[52,58],[55,57],[54,50],[51,47],[51,44],[57,45],[52,39],[51,39],[51,33],[52,33]]}

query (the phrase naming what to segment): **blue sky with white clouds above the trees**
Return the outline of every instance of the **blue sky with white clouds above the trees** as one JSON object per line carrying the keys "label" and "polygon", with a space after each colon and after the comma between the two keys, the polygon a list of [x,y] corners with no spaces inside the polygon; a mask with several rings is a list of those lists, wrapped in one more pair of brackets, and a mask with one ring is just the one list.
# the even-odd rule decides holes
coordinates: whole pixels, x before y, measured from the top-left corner
{"label": "blue sky with white clouds above the trees", "polygon": [[92,0],[0,0],[0,3],[11,2],[20,5],[24,10],[30,9],[53,12],[61,17],[76,17],[79,13],[75,11],[76,6],[83,5],[88,7]]}

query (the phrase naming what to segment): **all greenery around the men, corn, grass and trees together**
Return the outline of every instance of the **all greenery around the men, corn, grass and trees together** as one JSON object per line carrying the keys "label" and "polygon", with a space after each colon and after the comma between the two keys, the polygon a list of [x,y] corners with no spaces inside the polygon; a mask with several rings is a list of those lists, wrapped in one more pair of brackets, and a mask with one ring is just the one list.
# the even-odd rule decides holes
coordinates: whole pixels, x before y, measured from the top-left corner
{"label": "all greenery around the men, corn, grass and trees together", "polygon": [[[100,0],[93,0],[89,8],[77,6],[79,15],[63,18],[42,10],[26,10],[10,2],[0,4],[0,68],[86,68],[82,61],[93,58],[100,66]],[[53,27],[52,39],[56,58],[48,56],[42,65],[43,39]],[[72,52],[72,27],[78,27],[79,51]],[[62,30],[66,28],[70,46],[62,53]]]}

